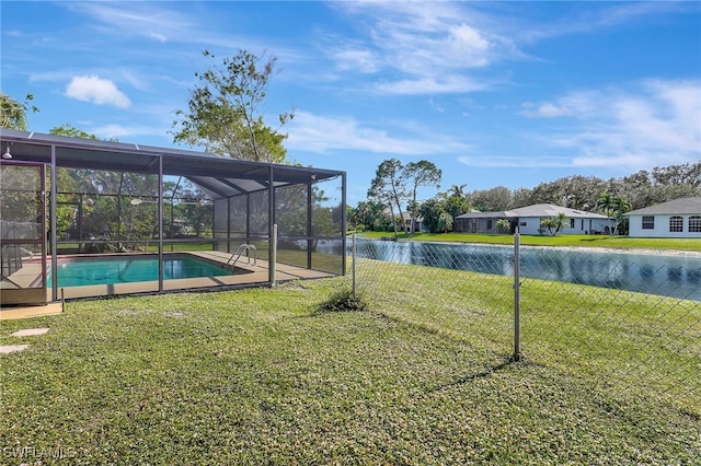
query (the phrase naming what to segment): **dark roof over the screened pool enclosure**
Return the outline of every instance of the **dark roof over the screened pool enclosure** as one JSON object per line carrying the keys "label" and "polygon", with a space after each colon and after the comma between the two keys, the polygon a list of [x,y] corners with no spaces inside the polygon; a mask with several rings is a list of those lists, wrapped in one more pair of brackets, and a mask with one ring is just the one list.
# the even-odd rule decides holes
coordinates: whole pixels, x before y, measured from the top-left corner
{"label": "dark roof over the screened pool enclosure", "polygon": [[228,198],[274,186],[308,183],[341,176],[344,172],[292,165],[267,164],[219,158],[205,152],[158,148],[125,142],[69,138],[2,128],[0,144],[11,149],[13,160],[72,168],[113,170],[182,175],[197,184],[210,198]]}

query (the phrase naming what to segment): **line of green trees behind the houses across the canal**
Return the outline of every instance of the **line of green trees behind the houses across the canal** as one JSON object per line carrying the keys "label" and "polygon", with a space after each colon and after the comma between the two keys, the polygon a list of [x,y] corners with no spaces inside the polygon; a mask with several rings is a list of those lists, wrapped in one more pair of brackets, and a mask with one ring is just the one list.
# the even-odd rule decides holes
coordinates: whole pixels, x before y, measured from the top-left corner
{"label": "line of green trees behind the houses across the canal", "polygon": [[[537,203],[552,203],[612,218],[611,232],[624,233],[624,213],[660,202],[701,196],[701,162],[656,166],[630,176],[602,179],[572,175],[530,188],[496,186],[467,191],[467,184],[452,185],[429,199],[416,199],[417,187],[439,189],[441,171],[428,161],[403,165],[382,162],[368,190],[367,200],[348,208],[348,223],[356,230],[414,231],[421,215],[423,228],[433,233],[450,232],[458,215],[471,211],[497,212]],[[562,219],[560,219],[562,221]],[[559,231],[558,219],[544,225]]]}

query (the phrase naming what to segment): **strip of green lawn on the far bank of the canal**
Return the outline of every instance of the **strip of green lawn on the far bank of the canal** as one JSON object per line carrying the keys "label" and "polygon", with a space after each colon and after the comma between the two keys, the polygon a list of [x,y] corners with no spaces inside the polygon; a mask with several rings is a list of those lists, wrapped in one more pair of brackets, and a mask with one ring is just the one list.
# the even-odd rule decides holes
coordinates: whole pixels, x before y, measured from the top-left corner
{"label": "strip of green lawn on the far bank of the canal", "polygon": [[[364,232],[368,238],[393,237],[392,232]],[[438,241],[455,243],[514,244],[507,234],[475,233],[410,233],[399,235],[400,241]],[[520,235],[520,243],[528,246],[610,247],[616,249],[674,249],[701,252],[698,238],[628,237],[610,235]]]}

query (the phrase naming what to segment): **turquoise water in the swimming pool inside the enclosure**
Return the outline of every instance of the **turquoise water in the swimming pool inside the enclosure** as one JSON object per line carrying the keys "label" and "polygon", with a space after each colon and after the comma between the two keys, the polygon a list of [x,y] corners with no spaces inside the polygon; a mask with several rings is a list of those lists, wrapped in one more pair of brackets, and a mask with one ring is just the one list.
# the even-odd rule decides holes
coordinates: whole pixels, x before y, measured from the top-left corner
{"label": "turquoise water in the swimming pool inside the enclosure", "polygon": [[[230,273],[219,266],[193,257],[177,256],[163,259],[164,280],[225,275]],[[79,258],[58,264],[59,288],[157,280],[157,257]],[[47,287],[51,287],[50,276]]]}

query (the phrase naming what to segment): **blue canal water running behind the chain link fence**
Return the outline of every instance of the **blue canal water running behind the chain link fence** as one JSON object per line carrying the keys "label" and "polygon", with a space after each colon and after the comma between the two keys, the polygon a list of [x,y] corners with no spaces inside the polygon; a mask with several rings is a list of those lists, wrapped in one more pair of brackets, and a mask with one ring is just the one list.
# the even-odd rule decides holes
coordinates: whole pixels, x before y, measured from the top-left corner
{"label": "blue canal water running behind the chain link fence", "polygon": [[[514,275],[514,247],[356,240],[356,255],[482,273]],[[701,301],[701,257],[521,246],[520,276]]]}

